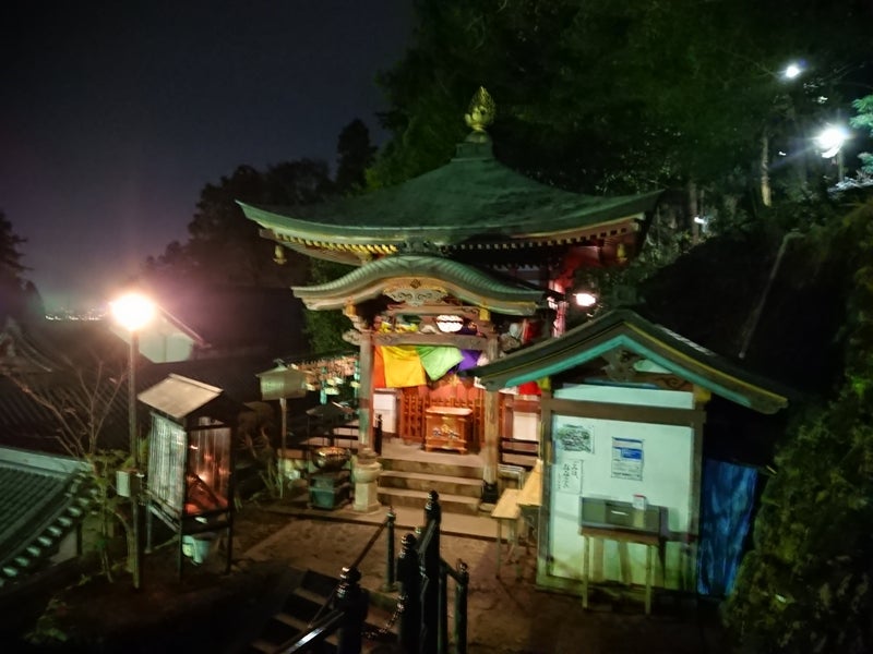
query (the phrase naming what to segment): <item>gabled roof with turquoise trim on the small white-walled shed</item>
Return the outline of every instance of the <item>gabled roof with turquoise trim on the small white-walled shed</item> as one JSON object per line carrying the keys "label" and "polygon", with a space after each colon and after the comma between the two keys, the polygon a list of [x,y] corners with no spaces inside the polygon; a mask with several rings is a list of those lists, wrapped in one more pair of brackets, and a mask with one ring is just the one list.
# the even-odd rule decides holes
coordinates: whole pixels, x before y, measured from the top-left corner
{"label": "gabled roof with turquoise trim on the small white-walled shed", "polygon": [[561,373],[617,349],[634,352],[674,375],[762,413],[775,413],[788,405],[788,393],[775,383],[744,371],[630,310],[610,312],[560,338],[464,374],[479,377],[489,390],[499,390]]}

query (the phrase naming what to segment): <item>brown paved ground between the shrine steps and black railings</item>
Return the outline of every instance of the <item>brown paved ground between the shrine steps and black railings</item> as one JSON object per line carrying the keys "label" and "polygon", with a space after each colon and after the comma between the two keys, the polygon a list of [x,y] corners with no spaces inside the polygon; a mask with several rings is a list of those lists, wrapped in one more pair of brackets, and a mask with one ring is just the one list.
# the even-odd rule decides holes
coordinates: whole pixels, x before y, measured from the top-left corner
{"label": "brown paved ground between the shrine steps and black railings", "polygon": [[[288,520],[248,549],[246,559],[287,561],[292,567],[336,576],[376,531],[373,524],[319,517]],[[407,531],[397,530],[397,549]],[[395,595],[378,593],[386,577],[385,553],[383,535],[360,569],[362,585],[375,595],[376,604],[390,608]],[[586,611],[577,597],[536,590],[533,549],[530,556],[522,558],[517,578],[515,570],[506,567],[500,578],[495,576],[493,540],[443,535],[442,557],[450,564],[462,559],[469,566],[468,645],[473,653],[730,652],[711,604],[659,597],[654,615],[647,618],[639,598],[597,593]]]}

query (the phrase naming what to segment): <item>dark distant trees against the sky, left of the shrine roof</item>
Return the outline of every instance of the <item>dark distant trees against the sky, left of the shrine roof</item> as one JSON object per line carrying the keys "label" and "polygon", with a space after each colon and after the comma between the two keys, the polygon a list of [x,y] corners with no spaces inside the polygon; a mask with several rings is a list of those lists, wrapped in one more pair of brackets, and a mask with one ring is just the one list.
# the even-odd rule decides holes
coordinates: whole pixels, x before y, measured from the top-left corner
{"label": "dark distant trees against the sky, left of the shrine roof", "polygon": [[[284,265],[275,261],[275,244],[262,238],[238,201],[262,206],[295,207],[361,192],[375,148],[367,125],[352,120],[337,140],[335,179],[326,162],[284,161],[266,170],[239,166],[218,183],[201,191],[186,243],[170,243],[146,262],[146,276],[160,286],[292,287],[327,281],[326,262],[284,249]],[[336,275],[340,274],[337,269]],[[339,312],[306,312],[311,352],[347,349],[342,334],[348,319]]]}

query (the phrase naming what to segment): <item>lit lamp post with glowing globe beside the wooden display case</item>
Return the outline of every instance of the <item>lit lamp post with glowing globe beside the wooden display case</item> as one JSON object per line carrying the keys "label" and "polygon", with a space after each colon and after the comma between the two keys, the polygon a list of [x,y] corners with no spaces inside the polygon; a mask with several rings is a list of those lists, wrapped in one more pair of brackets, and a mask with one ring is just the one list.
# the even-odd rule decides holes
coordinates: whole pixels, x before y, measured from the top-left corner
{"label": "lit lamp post with glowing globe beside the wooden display case", "polygon": [[131,480],[131,521],[133,522],[133,588],[142,584],[142,514],[140,511],[140,444],[136,429],[136,355],[140,350],[140,329],[145,327],[155,313],[155,305],[144,295],[128,293],[111,304],[112,316],[130,335],[128,351],[128,428],[130,431],[130,452],[133,460]]}

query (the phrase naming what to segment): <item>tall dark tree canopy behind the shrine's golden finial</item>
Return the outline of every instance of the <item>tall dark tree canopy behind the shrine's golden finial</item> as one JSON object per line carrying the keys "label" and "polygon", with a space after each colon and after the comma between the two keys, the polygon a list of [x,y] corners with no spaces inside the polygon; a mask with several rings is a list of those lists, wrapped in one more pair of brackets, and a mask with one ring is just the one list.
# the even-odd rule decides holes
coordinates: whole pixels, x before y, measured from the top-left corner
{"label": "tall dark tree canopy behind the shrine's golden finial", "polygon": [[[755,189],[762,157],[788,185],[815,181],[805,168],[821,162],[799,135],[845,104],[871,17],[861,0],[836,12],[820,0],[419,0],[417,11],[414,46],[381,77],[393,138],[373,185],[445,162],[483,85],[510,166],[589,193],[694,183],[695,195],[716,190],[710,207]],[[788,86],[791,58],[808,72]],[[790,166],[773,166],[779,150]]]}

